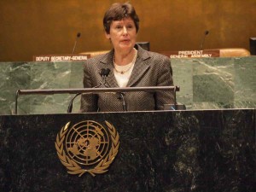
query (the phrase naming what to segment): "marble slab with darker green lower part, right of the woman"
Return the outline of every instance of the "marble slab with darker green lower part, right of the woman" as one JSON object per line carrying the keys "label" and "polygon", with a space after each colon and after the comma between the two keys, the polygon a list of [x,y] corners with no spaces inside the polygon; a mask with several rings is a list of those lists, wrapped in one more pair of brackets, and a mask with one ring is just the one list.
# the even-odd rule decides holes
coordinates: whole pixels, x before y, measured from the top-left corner
{"label": "marble slab with darker green lower part, right of the woman", "polygon": [[192,108],[233,108],[233,63],[230,58],[194,60]]}

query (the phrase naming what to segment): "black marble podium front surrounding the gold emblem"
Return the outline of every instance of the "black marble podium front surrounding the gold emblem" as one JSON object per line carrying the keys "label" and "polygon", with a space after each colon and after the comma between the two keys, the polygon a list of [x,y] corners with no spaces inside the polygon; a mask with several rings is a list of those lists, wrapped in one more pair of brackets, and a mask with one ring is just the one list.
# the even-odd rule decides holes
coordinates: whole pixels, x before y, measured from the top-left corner
{"label": "black marble podium front surrounding the gold emblem", "polygon": [[[0,191],[255,191],[255,109],[0,116]],[[62,127],[119,133],[108,172],[67,173]]]}

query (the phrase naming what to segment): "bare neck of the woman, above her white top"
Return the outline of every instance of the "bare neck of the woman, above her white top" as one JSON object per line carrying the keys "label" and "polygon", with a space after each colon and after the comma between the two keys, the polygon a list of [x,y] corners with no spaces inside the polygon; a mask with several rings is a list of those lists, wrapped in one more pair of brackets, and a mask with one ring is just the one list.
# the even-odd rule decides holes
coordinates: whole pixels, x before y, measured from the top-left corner
{"label": "bare neck of the woman, above her white top", "polygon": [[129,52],[125,52],[125,53],[118,50],[114,50],[113,58],[114,58],[115,64],[119,66],[128,65],[133,60],[135,56],[135,52],[136,51],[134,48],[131,49]]}

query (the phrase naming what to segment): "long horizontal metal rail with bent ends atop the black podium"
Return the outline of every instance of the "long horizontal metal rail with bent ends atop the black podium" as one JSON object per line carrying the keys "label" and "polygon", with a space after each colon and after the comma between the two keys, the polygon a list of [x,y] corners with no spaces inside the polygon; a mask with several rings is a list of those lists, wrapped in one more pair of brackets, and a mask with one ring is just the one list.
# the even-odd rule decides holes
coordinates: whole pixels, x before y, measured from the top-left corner
{"label": "long horizontal metal rail with bent ends atop the black podium", "polygon": [[18,113],[18,97],[20,95],[54,95],[54,94],[93,94],[93,93],[117,93],[117,92],[155,92],[161,90],[174,91],[174,104],[176,102],[176,91],[179,91],[178,86],[154,86],[154,87],[125,87],[125,88],[84,88],[84,89],[52,89],[52,90],[17,90],[15,96],[15,114]]}

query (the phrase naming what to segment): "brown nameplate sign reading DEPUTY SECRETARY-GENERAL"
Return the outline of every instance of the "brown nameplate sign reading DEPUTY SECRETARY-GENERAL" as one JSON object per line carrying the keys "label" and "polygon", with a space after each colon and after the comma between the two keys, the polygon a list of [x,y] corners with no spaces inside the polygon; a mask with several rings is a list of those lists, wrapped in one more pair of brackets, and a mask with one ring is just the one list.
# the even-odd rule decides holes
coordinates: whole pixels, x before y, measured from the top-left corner
{"label": "brown nameplate sign reading DEPUTY SECRETARY-GENERAL", "polygon": [[57,62],[57,61],[86,61],[90,58],[87,55],[34,55],[33,61]]}

